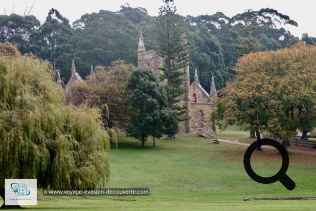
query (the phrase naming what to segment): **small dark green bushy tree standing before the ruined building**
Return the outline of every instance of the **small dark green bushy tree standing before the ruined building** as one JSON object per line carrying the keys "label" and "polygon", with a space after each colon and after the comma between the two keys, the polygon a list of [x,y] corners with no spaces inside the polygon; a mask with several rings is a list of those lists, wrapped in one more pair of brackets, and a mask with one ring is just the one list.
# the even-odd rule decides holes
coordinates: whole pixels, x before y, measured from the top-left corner
{"label": "small dark green bushy tree standing before the ruined building", "polygon": [[[177,121],[174,112],[167,108],[163,85],[150,69],[136,68],[128,79],[131,119],[126,131],[145,146],[148,136],[162,137],[164,132],[176,133]],[[154,146],[154,145],[153,145]]]}

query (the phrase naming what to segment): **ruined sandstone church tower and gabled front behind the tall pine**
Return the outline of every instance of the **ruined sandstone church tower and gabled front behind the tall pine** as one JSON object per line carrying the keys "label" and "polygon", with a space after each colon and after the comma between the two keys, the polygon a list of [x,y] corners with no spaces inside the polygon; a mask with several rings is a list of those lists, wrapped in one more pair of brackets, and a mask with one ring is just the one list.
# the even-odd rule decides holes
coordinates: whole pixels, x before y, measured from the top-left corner
{"label": "ruined sandstone church tower and gabled front behind the tall pine", "polygon": [[[186,41],[186,40],[185,40]],[[140,30],[138,44],[138,66],[149,67],[159,76],[162,71],[158,68],[163,67],[164,59],[154,50],[146,51],[142,30]],[[214,76],[212,76],[211,91],[207,93],[198,81],[197,71],[195,70],[194,81],[190,85],[189,65],[184,69],[185,78],[184,87],[188,88],[188,92],[179,96],[178,104],[186,105],[186,115],[191,119],[179,122],[179,133],[199,134],[217,132],[215,122],[210,122],[211,114],[215,109],[215,98],[217,96]],[[163,83],[165,81],[162,81]]]}

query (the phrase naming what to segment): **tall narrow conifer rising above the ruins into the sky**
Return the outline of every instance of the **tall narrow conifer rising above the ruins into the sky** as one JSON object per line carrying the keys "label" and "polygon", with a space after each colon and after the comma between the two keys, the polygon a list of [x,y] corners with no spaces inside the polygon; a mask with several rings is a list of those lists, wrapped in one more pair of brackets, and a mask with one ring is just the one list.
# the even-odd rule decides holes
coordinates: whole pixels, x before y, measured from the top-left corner
{"label": "tall narrow conifer rising above the ruins into the sky", "polygon": [[[189,64],[189,51],[186,42],[184,18],[177,15],[173,0],[164,0],[164,6],[160,8],[159,16],[156,18],[152,31],[155,35],[155,50],[164,58],[161,80],[166,82],[165,90],[168,98],[168,107],[176,112],[178,121],[187,120],[185,106],[178,106],[178,97],[186,92],[188,88],[182,85],[185,82],[185,71],[183,68]],[[173,137],[174,134],[168,134]]]}

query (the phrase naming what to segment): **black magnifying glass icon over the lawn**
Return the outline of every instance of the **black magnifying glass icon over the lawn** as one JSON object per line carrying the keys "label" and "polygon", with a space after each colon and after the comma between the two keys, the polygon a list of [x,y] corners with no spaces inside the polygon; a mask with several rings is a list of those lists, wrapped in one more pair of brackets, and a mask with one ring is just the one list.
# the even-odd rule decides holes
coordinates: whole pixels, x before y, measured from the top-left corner
{"label": "black magnifying glass icon over the lawn", "polygon": [[[250,158],[252,153],[257,149],[258,146],[261,145],[271,145],[277,148],[277,150],[280,152],[280,154],[282,155],[282,166],[280,168],[280,171],[272,176],[272,177],[261,177],[259,175],[257,175],[250,164]],[[284,148],[284,146],[282,146],[281,143],[279,143],[276,140],[273,139],[269,139],[269,138],[264,138],[264,139],[260,139],[258,141],[253,142],[248,149],[245,152],[245,155],[243,157],[243,165],[244,168],[247,172],[247,174],[256,182],[262,183],[262,184],[270,184],[270,183],[274,183],[276,181],[280,181],[289,191],[291,191],[292,189],[295,188],[295,183],[293,180],[291,180],[291,178],[289,178],[286,175],[286,171],[288,168],[288,154]]]}

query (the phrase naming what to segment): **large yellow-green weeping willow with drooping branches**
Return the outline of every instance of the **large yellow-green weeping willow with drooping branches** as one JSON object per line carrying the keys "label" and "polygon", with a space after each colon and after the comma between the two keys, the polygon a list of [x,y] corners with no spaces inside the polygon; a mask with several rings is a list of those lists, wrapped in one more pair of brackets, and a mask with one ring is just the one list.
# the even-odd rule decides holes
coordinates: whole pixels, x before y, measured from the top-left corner
{"label": "large yellow-green weeping willow with drooping branches", "polygon": [[92,189],[109,177],[100,110],[65,106],[48,62],[0,53],[0,187],[37,178],[38,188]]}

